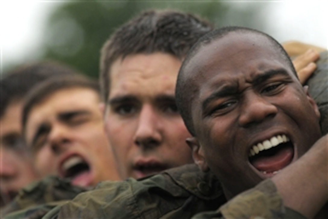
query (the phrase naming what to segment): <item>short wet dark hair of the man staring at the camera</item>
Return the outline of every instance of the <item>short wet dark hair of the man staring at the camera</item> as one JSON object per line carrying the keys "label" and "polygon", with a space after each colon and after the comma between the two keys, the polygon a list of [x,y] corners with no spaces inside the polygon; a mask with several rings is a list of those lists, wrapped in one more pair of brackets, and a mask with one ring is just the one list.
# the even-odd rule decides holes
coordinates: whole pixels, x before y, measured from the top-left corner
{"label": "short wet dark hair of the man staring at the camera", "polygon": [[101,50],[100,85],[103,101],[110,92],[114,61],[128,55],[162,52],[182,60],[197,39],[213,29],[207,20],[190,13],[149,10],[134,17],[105,42]]}

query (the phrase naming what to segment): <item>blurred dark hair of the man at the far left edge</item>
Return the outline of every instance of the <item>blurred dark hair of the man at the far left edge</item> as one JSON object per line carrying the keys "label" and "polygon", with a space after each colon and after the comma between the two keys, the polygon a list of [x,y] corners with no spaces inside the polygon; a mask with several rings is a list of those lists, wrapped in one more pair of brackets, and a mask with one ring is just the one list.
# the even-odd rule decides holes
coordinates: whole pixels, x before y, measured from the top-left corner
{"label": "blurred dark hair of the man at the far left edge", "polygon": [[0,80],[0,118],[10,104],[23,100],[40,82],[51,77],[74,74],[77,74],[75,69],[54,61],[29,63],[5,73]]}

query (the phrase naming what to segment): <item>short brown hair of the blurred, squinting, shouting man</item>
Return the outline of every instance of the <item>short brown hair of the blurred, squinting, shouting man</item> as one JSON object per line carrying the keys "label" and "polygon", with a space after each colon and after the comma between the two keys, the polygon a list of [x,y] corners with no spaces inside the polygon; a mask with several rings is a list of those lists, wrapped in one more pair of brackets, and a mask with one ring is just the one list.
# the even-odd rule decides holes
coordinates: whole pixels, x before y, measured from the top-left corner
{"label": "short brown hair of the blurred, squinting, shouting man", "polygon": [[86,76],[72,75],[60,78],[51,78],[33,88],[26,96],[22,113],[22,127],[23,135],[26,131],[26,123],[29,114],[33,107],[42,103],[45,99],[51,96],[53,93],[70,88],[88,88],[94,90],[100,99],[100,88],[97,81],[94,81]]}

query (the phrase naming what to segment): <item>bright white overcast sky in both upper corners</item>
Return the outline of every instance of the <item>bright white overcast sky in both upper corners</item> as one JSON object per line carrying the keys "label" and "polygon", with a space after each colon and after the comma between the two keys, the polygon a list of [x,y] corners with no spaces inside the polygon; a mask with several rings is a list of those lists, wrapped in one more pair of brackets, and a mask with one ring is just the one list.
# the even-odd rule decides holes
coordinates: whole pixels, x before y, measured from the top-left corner
{"label": "bright white overcast sky in both upper corners", "polygon": [[[229,1],[236,7],[267,4],[259,19],[278,41],[297,39],[328,47],[328,1]],[[61,1],[0,0],[1,72],[8,63],[37,55],[45,19]]]}

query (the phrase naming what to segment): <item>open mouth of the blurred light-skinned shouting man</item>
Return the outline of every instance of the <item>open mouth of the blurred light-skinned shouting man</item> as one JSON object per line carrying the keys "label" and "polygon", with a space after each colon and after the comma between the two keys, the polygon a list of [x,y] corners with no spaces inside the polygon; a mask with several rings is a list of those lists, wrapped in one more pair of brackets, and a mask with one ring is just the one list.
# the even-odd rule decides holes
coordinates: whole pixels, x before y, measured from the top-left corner
{"label": "open mouth of the blurred light-skinned shouting man", "polygon": [[87,186],[91,181],[90,165],[80,156],[72,156],[62,163],[61,176],[72,179],[74,185]]}

